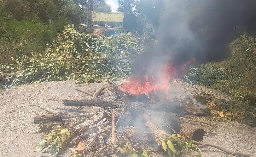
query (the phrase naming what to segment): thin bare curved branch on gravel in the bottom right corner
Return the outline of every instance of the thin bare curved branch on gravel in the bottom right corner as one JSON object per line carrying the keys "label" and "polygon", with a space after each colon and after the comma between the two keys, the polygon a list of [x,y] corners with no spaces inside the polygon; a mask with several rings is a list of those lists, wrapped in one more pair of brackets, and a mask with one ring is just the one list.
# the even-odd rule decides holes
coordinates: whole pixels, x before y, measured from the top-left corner
{"label": "thin bare curved branch on gravel in the bottom right corner", "polygon": [[223,152],[226,152],[228,154],[232,154],[233,153],[233,155],[238,155],[238,156],[243,156],[243,157],[253,156],[253,154],[250,154],[250,153],[243,153],[243,152],[240,152],[239,150],[237,150],[237,151],[229,150],[229,149],[224,148],[223,146],[219,146],[219,145],[214,145],[214,144],[210,144],[210,143],[196,142],[194,140],[192,140],[192,142],[195,145],[200,145],[200,147],[206,145],[206,146],[210,146],[210,147],[214,147],[214,148],[217,148],[219,150],[222,150]]}

